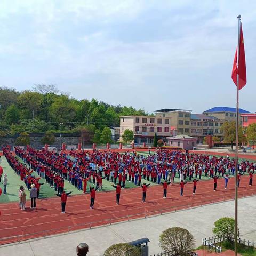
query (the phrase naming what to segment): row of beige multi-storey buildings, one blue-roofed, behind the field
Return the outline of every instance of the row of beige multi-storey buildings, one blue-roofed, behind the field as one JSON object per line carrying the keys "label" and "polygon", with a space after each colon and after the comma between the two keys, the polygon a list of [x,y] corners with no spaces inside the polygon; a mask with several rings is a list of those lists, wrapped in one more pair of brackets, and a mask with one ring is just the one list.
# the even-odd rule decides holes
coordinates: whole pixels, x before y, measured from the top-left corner
{"label": "row of beige multi-storey buildings, one blue-roofed, behind the field", "polygon": [[[159,109],[155,116],[121,116],[120,140],[126,129],[132,130],[135,143],[153,143],[154,135],[167,142],[167,137],[187,135],[197,138],[202,143],[206,135],[223,139],[221,126],[224,122],[236,121],[236,108],[214,107],[202,114],[193,114],[186,109]],[[239,109],[239,122],[242,125],[242,114],[249,111]]]}

